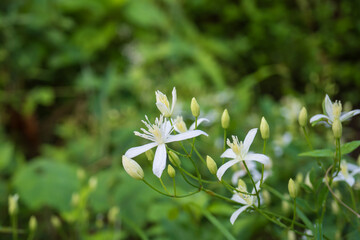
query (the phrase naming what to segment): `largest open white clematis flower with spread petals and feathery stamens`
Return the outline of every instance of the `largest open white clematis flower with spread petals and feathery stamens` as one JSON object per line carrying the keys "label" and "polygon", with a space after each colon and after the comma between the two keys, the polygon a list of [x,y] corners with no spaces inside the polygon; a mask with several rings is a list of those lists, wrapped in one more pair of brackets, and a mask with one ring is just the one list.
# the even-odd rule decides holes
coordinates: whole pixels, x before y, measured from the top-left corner
{"label": "largest open white clematis flower with spread petals and feathery stamens", "polygon": [[133,158],[141,153],[146,152],[149,149],[154,147],[156,148],[154,161],[153,161],[153,173],[160,178],[162,172],[166,167],[166,143],[182,141],[189,138],[194,138],[199,135],[208,136],[205,132],[200,130],[192,130],[177,135],[171,135],[174,128],[171,126],[170,121],[166,120],[163,115],[160,115],[160,118],[155,119],[155,124],[151,124],[148,117],[145,116],[146,121],[142,121],[148,130],[142,128],[143,133],[137,131],[134,132],[136,136],[145,138],[152,141],[151,143],[133,147],[127,150],[125,156],[128,158]]}

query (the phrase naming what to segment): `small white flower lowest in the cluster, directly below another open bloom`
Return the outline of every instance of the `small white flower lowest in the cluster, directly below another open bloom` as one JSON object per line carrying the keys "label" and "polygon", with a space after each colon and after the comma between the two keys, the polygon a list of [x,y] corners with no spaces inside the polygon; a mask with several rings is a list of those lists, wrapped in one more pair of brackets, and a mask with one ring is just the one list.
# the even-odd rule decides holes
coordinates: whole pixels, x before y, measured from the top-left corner
{"label": "small white flower lowest in the cluster, directly below another open bloom", "polygon": [[[257,182],[255,186],[256,186],[256,189],[259,191],[260,190],[260,181]],[[237,189],[241,192],[246,192],[246,193],[248,192],[245,184],[243,186],[241,186],[239,184],[239,187]],[[239,208],[238,210],[236,210],[231,215],[231,217],[230,217],[231,224],[234,224],[235,220],[239,217],[239,215],[243,211],[245,211],[246,209],[248,209],[249,207],[251,207],[257,203],[256,195],[248,195],[248,194],[241,193],[241,192],[234,191],[234,195],[231,198],[231,200],[234,200],[235,202],[238,202],[238,203],[244,205],[241,208]],[[255,194],[255,193],[256,193],[255,188],[253,188],[251,194]]]}

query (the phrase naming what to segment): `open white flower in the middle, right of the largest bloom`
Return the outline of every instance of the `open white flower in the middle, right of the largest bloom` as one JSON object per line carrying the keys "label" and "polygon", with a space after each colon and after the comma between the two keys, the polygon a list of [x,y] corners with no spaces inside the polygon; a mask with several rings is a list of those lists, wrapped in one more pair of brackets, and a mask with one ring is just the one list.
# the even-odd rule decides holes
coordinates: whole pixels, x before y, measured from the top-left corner
{"label": "open white flower in the middle, right of the largest bloom", "polygon": [[232,136],[233,142],[227,140],[227,144],[230,148],[226,149],[226,151],[220,156],[221,158],[232,158],[233,160],[228,161],[224,165],[222,165],[217,171],[217,177],[221,180],[225,171],[230,168],[232,165],[244,161],[246,163],[250,161],[257,161],[262,164],[269,163],[269,157],[264,154],[251,153],[249,152],[249,148],[254,140],[256,135],[257,128],[251,129],[245,137],[244,143],[239,142],[239,139],[235,136]]}

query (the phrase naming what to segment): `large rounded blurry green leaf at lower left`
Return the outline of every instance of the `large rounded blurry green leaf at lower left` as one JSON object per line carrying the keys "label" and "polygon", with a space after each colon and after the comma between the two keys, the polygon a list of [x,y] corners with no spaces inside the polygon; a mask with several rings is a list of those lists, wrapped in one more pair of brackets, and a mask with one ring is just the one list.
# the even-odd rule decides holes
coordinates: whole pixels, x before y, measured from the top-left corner
{"label": "large rounded blurry green leaf at lower left", "polygon": [[49,159],[34,160],[20,169],[14,184],[20,200],[32,210],[44,206],[69,210],[71,195],[80,187],[75,167]]}

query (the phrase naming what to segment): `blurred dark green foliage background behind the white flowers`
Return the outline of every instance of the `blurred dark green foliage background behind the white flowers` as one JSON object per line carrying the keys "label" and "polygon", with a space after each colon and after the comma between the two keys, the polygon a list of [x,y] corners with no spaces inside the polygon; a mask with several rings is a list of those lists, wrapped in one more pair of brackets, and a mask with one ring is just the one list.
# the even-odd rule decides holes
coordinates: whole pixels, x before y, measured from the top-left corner
{"label": "blurred dark green foliage background behind the white flowers", "polygon": [[[151,191],[125,174],[121,156],[145,143],[133,131],[145,114],[158,116],[155,90],[170,96],[175,86],[188,123],[194,96],[211,120],[202,127],[210,138],[198,144],[217,161],[225,108],[229,133],[241,138],[265,116],[269,181],[286,192],[289,177],[314,166],[298,157],[308,150],[300,108],[319,113],[326,93],[344,109],[360,108],[359,9],[359,1],[336,0],[2,0],[0,225],[10,225],[7,196],[18,193],[19,226],[35,215],[37,239],[224,239],[218,224],[241,239],[286,239],[257,214],[231,226],[233,206],[205,194],[173,200]],[[344,138],[359,139],[359,120],[347,126]],[[331,132],[311,131],[315,147],[324,138],[332,146]],[[261,151],[259,136],[254,144]],[[145,156],[136,159],[158,184]],[[71,196],[92,176],[98,186],[86,224],[74,224]],[[107,219],[113,206],[115,226]],[[273,197],[271,206],[279,210],[281,201]]]}

